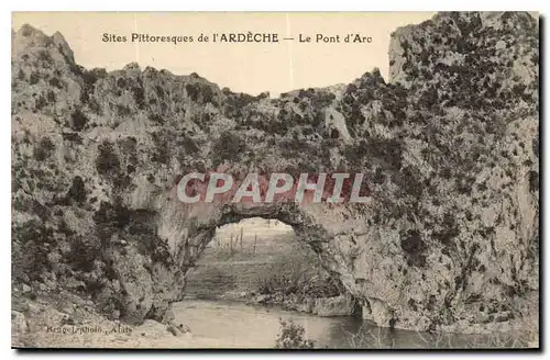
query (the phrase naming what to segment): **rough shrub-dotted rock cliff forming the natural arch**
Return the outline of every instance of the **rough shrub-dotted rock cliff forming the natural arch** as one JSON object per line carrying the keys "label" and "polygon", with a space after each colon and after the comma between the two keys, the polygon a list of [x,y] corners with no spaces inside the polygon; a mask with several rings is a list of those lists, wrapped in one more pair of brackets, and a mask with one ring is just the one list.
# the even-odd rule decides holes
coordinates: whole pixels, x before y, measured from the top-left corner
{"label": "rough shrub-dotted rock cliff forming the natural arch", "polygon": [[[292,225],[382,326],[505,322],[538,291],[538,23],[441,13],[392,37],[391,81],[270,99],[12,45],[13,283],[167,320],[217,226]],[[182,173],[362,171],[372,203],[184,205]]]}

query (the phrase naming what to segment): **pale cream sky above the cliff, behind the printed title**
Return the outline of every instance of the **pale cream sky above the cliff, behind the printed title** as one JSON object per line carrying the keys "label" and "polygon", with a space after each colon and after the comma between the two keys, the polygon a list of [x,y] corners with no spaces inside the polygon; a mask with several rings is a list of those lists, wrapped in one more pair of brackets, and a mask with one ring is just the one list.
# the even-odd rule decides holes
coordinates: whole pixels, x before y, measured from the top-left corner
{"label": "pale cream sky above the cliff, behind the printed title", "polygon": [[[363,13],[182,13],[182,12],[15,12],[12,27],[25,23],[47,35],[59,31],[77,64],[108,71],[136,61],[176,75],[197,72],[220,88],[257,94],[348,83],[378,67],[387,79],[389,34],[420,23],[432,12]],[[199,43],[204,33],[277,33],[279,43]],[[102,42],[103,34],[127,43]],[[132,33],[193,36],[193,43],[132,43]],[[371,44],[343,43],[346,34],[371,36]],[[299,35],[314,43],[299,43]],[[317,34],[339,35],[341,43],[315,43]],[[294,37],[294,41],[283,41]]]}

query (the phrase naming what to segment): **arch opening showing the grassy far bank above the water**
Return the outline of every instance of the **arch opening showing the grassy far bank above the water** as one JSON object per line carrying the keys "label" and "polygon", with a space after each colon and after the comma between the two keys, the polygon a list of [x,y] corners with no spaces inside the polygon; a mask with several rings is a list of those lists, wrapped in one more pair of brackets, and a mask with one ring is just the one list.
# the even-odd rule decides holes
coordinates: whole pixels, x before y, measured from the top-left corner
{"label": "arch opening showing the grassy far bank above the water", "polygon": [[244,301],[321,316],[358,314],[311,246],[293,226],[270,217],[217,227],[186,274],[185,299]]}

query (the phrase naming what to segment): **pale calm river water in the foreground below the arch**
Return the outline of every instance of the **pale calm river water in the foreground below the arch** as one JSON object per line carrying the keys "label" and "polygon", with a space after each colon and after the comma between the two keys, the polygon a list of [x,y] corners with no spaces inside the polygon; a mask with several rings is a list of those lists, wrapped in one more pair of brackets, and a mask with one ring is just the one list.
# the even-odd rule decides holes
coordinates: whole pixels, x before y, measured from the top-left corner
{"label": "pale calm river water in the foreground below the arch", "polygon": [[278,307],[231,301],[186,300],[174,304],[176,322],[194,336],[216,339],[222,348],[273,348],[279,319],[304,327],[320,348],[449,348],[466,347],[472,335],[430,335],[380,328],[352,316],[320,317]]}

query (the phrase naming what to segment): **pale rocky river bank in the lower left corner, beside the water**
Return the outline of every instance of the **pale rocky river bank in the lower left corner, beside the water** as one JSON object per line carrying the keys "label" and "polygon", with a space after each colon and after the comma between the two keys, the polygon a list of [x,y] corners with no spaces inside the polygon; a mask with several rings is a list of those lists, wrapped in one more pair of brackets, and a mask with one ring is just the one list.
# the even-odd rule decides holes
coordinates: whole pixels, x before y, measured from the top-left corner
{"label": "pale rocky river bank in the lower left corner, beside the water", "polygon": [[[90,300],[69,292],[12,295],[14,348],[220,348],[218,339],[193,334],[187,325],[147,319],[139,326],[110,320]],[[235,347],[246,346],[235,344]]]}

